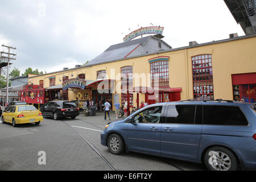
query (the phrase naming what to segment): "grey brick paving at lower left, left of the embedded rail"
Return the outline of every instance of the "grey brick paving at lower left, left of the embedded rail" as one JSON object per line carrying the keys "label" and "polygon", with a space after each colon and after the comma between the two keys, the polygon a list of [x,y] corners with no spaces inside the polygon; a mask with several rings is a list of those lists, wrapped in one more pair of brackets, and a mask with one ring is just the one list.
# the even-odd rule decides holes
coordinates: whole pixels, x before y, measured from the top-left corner
{"label": "grey brick paving at lower left, left of the embedded rail", "polygon": [[[84,119],[84,115],[81,113],[79,118]],[[38,164],[39,151],[46,152],[46,165]],[[44,118],[39,126],[30,123],[13,127],[0,122],[0,170],[90,171],[110,168],[65,123]]]}

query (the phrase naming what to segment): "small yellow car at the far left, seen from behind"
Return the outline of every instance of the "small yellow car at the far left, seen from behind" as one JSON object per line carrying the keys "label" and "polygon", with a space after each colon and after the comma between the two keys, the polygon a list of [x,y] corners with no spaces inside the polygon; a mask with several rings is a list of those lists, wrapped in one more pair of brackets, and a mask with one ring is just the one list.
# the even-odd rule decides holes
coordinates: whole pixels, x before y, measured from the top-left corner
{"label": "small yellow car at the far left, seen from behind", "polygon": [[15,127],[16,124],[23,123],[39,123],[43,121],[43,115],[41,111],[36,109],[32,105],[15,105],[9,107],[2,115],[2,123],[12,123]]}

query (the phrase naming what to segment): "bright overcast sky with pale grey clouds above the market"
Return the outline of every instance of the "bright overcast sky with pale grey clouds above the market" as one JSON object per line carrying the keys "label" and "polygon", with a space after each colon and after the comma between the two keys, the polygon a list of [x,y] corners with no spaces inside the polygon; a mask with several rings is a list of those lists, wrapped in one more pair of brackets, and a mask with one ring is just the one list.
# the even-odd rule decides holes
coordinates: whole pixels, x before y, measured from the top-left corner
{"label": "bright overcast sky with pale grey clouds above the market", "polygon": [[245,35],[223,0],[8,0],[0,6],[0,45],[17,48],[11,69],[49,73],[84,64],[150,23],[164,27],[172,48]]}

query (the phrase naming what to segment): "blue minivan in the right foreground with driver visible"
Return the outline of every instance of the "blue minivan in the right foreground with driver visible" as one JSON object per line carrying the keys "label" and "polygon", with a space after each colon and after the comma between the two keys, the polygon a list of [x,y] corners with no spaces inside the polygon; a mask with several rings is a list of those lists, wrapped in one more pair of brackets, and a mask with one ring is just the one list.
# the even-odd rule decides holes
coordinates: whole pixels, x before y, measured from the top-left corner
{"label": "blue minivan in the right foreground with driver visible", "polygon": [[255,112],[251,104],[222,100],[148,105],[106,125],[101,144],[116,155],[135,151],[209,170],[256,169]]}

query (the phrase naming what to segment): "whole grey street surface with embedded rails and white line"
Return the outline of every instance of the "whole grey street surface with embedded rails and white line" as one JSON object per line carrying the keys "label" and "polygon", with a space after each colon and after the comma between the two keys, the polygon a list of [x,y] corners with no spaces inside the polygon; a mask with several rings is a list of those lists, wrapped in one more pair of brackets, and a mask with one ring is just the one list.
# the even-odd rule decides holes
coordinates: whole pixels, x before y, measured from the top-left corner
{"label": "whole grey street surface with embedded rails and white line", "polygon": [[[113,155],[100,143],[100,133],[108,122],[103,113],[95,117],[81,113],[76,119],[44,118],[39,126],[0,123],[0,170],[206,170],[203,164],[135,152]],[[38,163],[39,151],[46,153],[46,164]]]}

